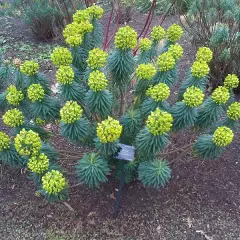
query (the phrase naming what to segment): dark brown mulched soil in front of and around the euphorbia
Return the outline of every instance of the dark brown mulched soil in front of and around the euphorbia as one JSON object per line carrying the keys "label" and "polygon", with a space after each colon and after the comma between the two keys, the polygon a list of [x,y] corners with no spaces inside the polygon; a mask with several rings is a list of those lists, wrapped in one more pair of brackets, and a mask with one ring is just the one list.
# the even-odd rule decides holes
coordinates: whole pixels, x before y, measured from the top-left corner
{"label": "dark brown mulched soil in front of and around the euphorbia", "polygon": [[[146,16],[134,13],[131,24],[140,30],[143,18]],[[153,24],[157,21],[155,18]],[[176,22],[176,18],[168,18],[164,25],[171,22]],[[194,58],[191,42],[185,38],[182,43],[185,55],[180,63],[180,79]],[[7,131],[1,123],[0,130]],[[173,138],[172,148],[186,145],[190,139],[191,132],[179,133]],[[0,239],[240,239],[239,143],[237,133],[233,144],[218,160],[196,159],[191,153],[166,156],[169,161],[179,159],[171,166],[169,184],[157,191],[137,181],[127,185],[117,219],[113,217],[113,193],[118,188],[114,176],[109,176],[109,182],[98,190],[85,186],[71,188],[69,205],[50,204],[35,196],[35,186],[27,179],[27,173],[1,166]],[[60,136],[53,139],[53,144],[61,150],[88,151]],[[62,164],[73,171],[74,163],[66,160]],[[75,178],[69,177],[70,184],[75,184]]]}

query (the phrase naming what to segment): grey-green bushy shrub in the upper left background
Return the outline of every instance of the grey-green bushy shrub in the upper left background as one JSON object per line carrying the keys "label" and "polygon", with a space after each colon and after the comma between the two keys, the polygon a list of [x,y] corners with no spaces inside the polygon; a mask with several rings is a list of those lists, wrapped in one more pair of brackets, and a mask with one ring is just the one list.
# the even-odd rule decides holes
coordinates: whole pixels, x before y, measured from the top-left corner
{"label": "grey-green bushy shrub in the upper left background", "polygon": [[12,13],[29,26],[34,35],[40,40],[61,37],[65,25],[72,21],[72,14],[76,7],[83,7],[79,2],[70,1],[29,1],[13,0]]}

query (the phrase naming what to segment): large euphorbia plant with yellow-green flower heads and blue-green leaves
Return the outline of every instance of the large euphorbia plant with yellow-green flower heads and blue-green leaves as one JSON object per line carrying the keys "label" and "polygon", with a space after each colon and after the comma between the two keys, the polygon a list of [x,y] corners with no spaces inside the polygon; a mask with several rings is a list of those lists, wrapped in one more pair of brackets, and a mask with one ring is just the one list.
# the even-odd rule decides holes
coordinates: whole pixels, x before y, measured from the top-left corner
{"label": "large euphorbia plant with yellow-green flower heads and blue-green leaves", "polygon": [[[202,131],[193,144],[194,153],[216,158],[238,129],[240,103],[234,102],[232,91],[238,78],[229,75],[224,86],[206,96],[212,59],[208,48],[197,52],[180,86],[178,101],[172,104],[168,98],[179,80],[178,62],[183,54],[176,43],[183,33],[181,27],[174,24],[166,32],[154,27],[152,41],[140,39],[137,56],[133,54],[137,33],[129,26],[122,27],[115,48],[107,53],[97,48],[102,43],[98,22],[102,14],[103,10],[93,5],[77,11],[73,23],[66,26],[63,35],[69,49],[57,47],[51,56],[57,68],[56,96],[34,61],[26,61],[20,68],[16,65],[11,75],[3,74],[9,73],[9,66],[0,69],[1,79],[5,76],[9,83],[0,95],[3,122],[14,130],[11,137],[0,132],[0,159],[11,166],[27,167],[39,192],[50,201],[67,198],[68,184],[57,164],[61,154],[48,141],[54,133],[42,127],[47,123],[58,123],[60,133],[70,141],[95,147],[75,168],[79,181],[89,187],[106,182],[111,170],[116,169],[119,176],[116,155],[120,143],[136,149],[134,160],[124,165],[125,181],[137,178],[158,188],[171,177],[168,159],[158,156],[171,144],[173,133],[187,128]],[[164,41],[163,48],[160,41]],[[134,94],[129,97],[135,77]]]}

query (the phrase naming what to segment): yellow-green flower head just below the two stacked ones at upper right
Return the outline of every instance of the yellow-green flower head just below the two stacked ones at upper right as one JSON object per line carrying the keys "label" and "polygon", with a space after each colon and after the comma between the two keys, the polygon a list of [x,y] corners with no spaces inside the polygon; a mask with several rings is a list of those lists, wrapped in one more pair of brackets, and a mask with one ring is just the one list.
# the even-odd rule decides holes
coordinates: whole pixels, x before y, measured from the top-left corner
{"label": "yellow-green flower head just below the two stacked ones at upper right", "polygon": [[183,95],[183,102],[191,107],[198,107],[203,103],[204,93],[200,88],[197,87],[189,87]]}

